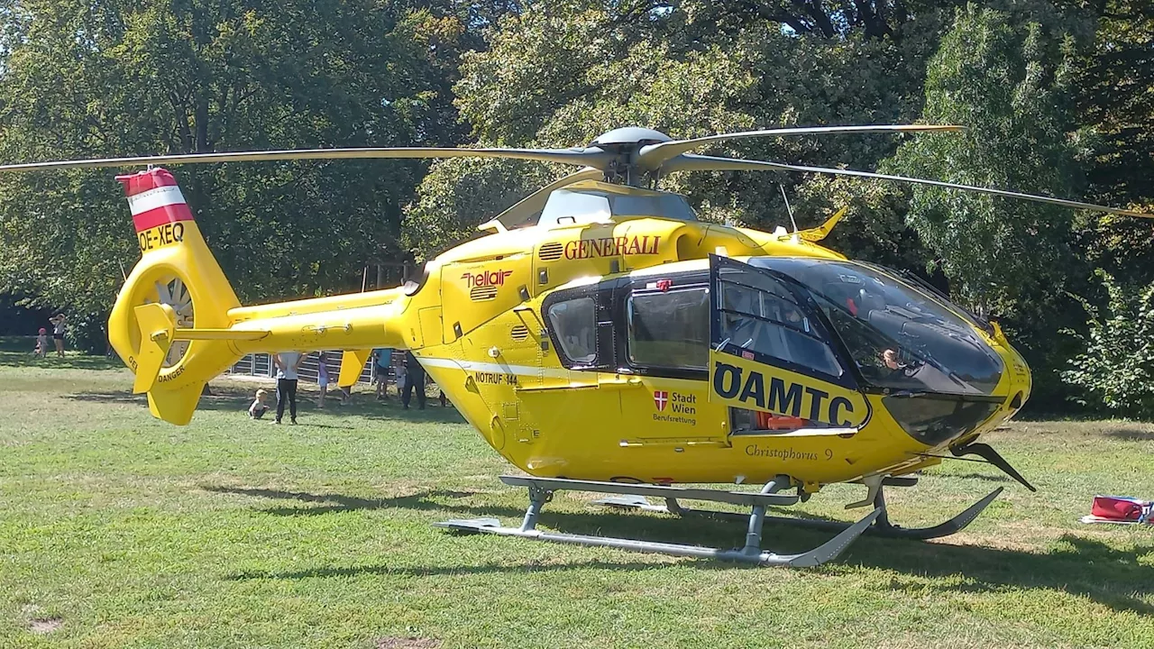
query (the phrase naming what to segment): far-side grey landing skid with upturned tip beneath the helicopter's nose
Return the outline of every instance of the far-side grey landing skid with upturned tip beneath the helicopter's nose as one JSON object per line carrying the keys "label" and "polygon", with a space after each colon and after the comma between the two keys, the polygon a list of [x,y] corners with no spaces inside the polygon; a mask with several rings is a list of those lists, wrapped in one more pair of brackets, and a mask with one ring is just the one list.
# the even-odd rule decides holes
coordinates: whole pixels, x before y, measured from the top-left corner
{"label": "far-side grey landing skid with upturned tip beneath the helicopter's nose", "polygon": [[[902,486],[906,485],[902,484]],[[976,519],[979,514],[981,514],[998,495],[1002,494],[1003,488],[1004,487],[998,487],[994,490],[986,498],[967,507],[965,512],[958,514],[949,521],[930,528],[902,528],[891,523],[885,510],[885,494],[882,490],[878,490],[877,495],[874,498],[874,510],[877,513],[877,517],[874,520],[871,525],[867,527],[862,531],[862,534],[890,538],[908,538],[914,540],[929,540],[931,538],[950,536],[966,529],[969,523],[974,522],[974,519]],[[675,498],[667,498],[665,505],[653,505],[645,499],[645,497],[635,494],[602,498],[601,500],[594,500],[593,502],[621,509],[643,509],[645,512],[661,512],[666,514],[676,514],[679,516],[706,516],[710,519],[721,520],[744,519],[744,515],[735,512],[717,512],[712,509],[691,509],[689,507],[682,507]],[[766,516],[765,520],[803,528],[834,531],[848,530],[849,528],[857,525],[857,523],[846,523],[841,521],[792,519],[787,516]]]}

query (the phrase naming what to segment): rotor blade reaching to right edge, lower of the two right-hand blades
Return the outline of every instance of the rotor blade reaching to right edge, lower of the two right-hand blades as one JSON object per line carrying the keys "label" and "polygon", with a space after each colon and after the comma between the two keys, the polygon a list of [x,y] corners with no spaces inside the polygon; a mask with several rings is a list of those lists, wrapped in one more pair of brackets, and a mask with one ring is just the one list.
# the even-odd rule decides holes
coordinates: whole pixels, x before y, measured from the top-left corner
{"label": "rotor blade reaching to right edge, lower of the two right-hand blades", "polygon": [[916,185],[945,187],[947,189],[965,189],[967,192],[979,192],[982,194],[1004,196],[1007,199],[1022,199],[1066,208],[1088,209],[1109,214],[1121,214],[1124,216],[1137,216],[1140,218],[1154,218],[1154,214],[1144,214],[1127,209],[1096,206],[1080,201],[1067,201],[1065,199],[1054,199],[1051,196],[1040,196],[1037,194],[1022,194],[1021,192],[1009,192],[1006,189],[991,189],[989,187],[975,187],[973,185],[959,185],[957,182],[943,182],[941,180],[927,180],[924,178],[911,178],[908,176],[890,176],[886,173],[855,171],[852,169],[829,169],[822,166],[803,166],[764,161],[741,161],[736,158],[696,156],[694,154],[682,154],[681,156],[667,162],[662,169],[666,173],[674,171],[804,171],[809,173],[829,173],[832,176],[852,176],[854,178],[876,178],[879,180],[897,180],[899,182],[914,182]]}

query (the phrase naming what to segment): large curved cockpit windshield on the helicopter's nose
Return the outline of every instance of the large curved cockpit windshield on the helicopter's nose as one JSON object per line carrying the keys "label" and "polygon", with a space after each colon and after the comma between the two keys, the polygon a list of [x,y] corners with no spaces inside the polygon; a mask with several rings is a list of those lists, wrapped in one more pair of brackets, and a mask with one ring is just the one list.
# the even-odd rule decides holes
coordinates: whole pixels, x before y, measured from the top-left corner
{"label": "large curved cockpit windshield on the helicopter's nose", "polygon": [[809,289],[870,385],[989,395],[1002,358],[939,298],[878,267],[808,258],[755,258]]}

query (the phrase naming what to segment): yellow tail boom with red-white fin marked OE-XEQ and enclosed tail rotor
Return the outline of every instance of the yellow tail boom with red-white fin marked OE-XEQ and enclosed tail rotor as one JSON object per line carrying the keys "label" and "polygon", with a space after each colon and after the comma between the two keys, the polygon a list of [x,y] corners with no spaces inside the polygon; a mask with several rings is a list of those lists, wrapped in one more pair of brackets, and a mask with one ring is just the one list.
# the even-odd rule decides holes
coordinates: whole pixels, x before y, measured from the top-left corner
{"label": "yellow tail boom with red-white fin marked OE-XEQ and enclosed tail rotor", "polygon": [[141,259],[108,315],[108,341],[157,418],[187,424],[204,385],[252,352],[351,350],[338,381],[346,386],[373,348],[420,346],[420,331],[402,326],[410,300],[400,288],[242,307],[172,174],[156,167],[118,180]]}

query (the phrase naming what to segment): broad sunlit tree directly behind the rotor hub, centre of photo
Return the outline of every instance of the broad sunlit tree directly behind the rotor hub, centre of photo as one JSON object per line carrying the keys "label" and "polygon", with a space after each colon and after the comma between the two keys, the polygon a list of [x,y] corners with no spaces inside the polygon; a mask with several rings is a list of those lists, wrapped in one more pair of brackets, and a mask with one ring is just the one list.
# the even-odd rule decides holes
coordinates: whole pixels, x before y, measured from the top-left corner
{"label": "broad sunlit tree directly behind the rotor hub, centre of photo", "polygon": [[[760,12],[745,5],[780,6]],[[837,3],[801,5],[527,5],[501,22],[487,51],[463,59],[457,105],[481,144],[526,147],[584,144],[627,125],[689,137],[787,125],[891,122],[920,112],[921,61],[932,39],[917,35],[932,33],[937,10],[899,20],[884,5],[891,31],[906,35],[898,39],[867,36],[856,18],[830,36],[816,28],[785,29],[790,21],[818,21],[814,12],[844,16]],[[892,136],[855,135],[734,142],[710,152],[868,167],[894,146]],[[478,222],[564,173],[546,176],[538,167],[542,171],[533,172],[531,181],[510,171],[479,176],[482,169],[499,167],[457,161],[433,165],[406,222],[414,243],[425,243],[425,255],[472,234]],[[875,261],[906,264],[921,251],[902,222],[898,189],[875,186],[863,188],[868,197],[850,196],[853,182],[831,185],[825,178],[782,173],[679,174],[664,187],[685,193],[703,218],[772,227],[789,223],[778,184],[792,195],[802,226],[842,207],[839,201],[850,202],[848,223],[837,239],[849,254],[865,252]],[[831,187],[838,191],[831,193]],[[452,214],[470,216],[439,221],[450,207],[458,209]],[[849,230],[860,236],[845,234]],[[875,233],[897,240],[874,245]]]}

